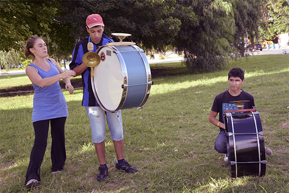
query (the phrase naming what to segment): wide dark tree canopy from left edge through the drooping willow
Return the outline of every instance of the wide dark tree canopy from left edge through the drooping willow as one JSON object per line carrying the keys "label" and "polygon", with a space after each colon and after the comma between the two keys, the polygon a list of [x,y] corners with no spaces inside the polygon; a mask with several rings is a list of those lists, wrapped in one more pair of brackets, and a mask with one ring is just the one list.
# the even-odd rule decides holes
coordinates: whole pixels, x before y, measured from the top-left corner
{"label": "wide dark tree canopy from left edge through the drooping willow", "polygon": [[190,72],[213,72],[226,65],[223,58],[244,53],[244,38],[257,36],[269,1],[282,0],[4,0],[0,50],[20,49],[20,41],[38,34],[48,53],[63,59],[88,36],[87,16],[98,13],[106,35],[130,33],[126,41],[146,50],[173,46]]}

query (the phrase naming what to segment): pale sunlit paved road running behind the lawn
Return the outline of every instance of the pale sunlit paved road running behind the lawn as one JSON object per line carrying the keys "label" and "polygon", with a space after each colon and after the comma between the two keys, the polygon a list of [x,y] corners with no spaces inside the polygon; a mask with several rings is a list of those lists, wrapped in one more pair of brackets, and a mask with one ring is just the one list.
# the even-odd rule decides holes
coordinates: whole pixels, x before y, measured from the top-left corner
{"label": "pale sunlit paved road running behind the lawn", "polygon": [[[279,49],[263,49],[262,51],[254,51],[254,52],[247,52],[249,55],[267,55],[267,54],[283,54],[283,50],[286,50],[287,54],[289,54],[289,46],[280,46]],[[183,58],[181,57],[172,57],[172,58],[166,58],[164,60],[160,59],[154,59],[154,60],[148,60],[149,64],[156,64],[156,63],[168,63],[168,62],[179,62]],[[15,74],[24,74],[25,70],[19,70],[19,71],[1,71],[0,76],[5,75],[15,75]]]}

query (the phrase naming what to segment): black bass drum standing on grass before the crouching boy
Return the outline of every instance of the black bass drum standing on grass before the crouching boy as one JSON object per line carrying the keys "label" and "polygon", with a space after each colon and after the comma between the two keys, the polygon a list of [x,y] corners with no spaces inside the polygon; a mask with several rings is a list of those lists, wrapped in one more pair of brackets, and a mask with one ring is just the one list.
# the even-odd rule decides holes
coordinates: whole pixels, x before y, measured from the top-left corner
{"label": "black bass drum standing on grass before the crouching boy", "polygon": [[[232,178],[266,173],[264,133],[256,109],[225,111],[228,161]],[[244,111],[244,112],[240,112]]]}

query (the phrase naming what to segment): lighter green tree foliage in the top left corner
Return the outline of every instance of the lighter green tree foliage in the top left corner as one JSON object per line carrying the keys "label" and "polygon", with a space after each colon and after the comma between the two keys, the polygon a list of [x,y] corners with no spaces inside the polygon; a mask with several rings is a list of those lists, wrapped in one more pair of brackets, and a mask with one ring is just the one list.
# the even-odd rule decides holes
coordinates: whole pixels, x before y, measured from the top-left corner
{"label": "lighter green tree foliage in the top left corner", "polygon": [[0,2],[0,50],[23,49],[19,41],[44,35],[56,14],[54,0],[5,0]]}

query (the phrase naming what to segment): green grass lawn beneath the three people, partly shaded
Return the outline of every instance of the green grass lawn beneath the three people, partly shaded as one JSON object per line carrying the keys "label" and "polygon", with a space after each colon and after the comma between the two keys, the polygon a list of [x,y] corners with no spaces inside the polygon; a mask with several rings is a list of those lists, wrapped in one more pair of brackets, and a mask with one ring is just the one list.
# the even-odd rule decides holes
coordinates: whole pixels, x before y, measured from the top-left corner
{"label": "green grass lawn beneath the three people, partly shaded", "polygon": [[[171,65],[171,66],[170,66]],[[179,63],[152,65],[183,68]],[[232,67],[245,71],[243,90],[255,96],[267,156],[266,175],[231,179],[223,155],[214,150],[219,129],[208,121],[214,97],[228,89]],[[169,73],[169,72],[166,72]],[[163,74],[165,75],[165,74]],[[109,178],[98,182],[98,160],[89,120],[81,107],[82,89],[64,91],[67,162],[58,175],[50,173],[50,145],[41,168],[41,184],[33,193],[287,193],[289,192],[289,55],[264,55],[232,60],[214,73],[165,75],[154,78],[151,94],[140,110],[122,112],[125,158],[138,173],[114,171],[116,156],[106,134]],[[72,81],[79,81],[79,77]],[[31,85],[26,75],[0,76],[0,89]],[[24,187],[34,143],[31,122],[33,93],[3,96],[0,103],[0,192],[27,192]]]}

